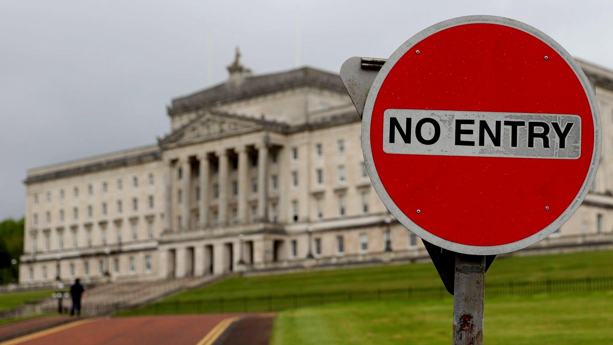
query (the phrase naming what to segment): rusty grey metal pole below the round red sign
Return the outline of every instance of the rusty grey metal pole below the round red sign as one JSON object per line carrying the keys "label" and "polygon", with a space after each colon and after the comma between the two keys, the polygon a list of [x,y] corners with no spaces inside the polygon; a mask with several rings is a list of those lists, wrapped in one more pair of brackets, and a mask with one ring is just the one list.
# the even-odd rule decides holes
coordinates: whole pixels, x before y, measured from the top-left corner
{"label": "rusty grey metal pole below the round red sign", "polygon": [[483,345],[485,256],[455,254],[453,345]]}

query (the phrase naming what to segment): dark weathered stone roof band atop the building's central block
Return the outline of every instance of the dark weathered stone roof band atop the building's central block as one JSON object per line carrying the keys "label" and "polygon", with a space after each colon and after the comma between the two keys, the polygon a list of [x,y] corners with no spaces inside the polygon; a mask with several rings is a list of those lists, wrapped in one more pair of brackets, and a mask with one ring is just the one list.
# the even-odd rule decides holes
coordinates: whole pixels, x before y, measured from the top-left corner
{"label": "dark weathered stone roof band atop the building's central block", "polygon": [[172,106],[168,109],[168,114],[172,116],[188,110],[303,85],[347,93],[338,74],[322,71],[321,69],[303,67],[280,73],[246,76],[240,83],[232,83],[229,80],[214,87],[197,91],[192,95],[175,98],[172,100]]}

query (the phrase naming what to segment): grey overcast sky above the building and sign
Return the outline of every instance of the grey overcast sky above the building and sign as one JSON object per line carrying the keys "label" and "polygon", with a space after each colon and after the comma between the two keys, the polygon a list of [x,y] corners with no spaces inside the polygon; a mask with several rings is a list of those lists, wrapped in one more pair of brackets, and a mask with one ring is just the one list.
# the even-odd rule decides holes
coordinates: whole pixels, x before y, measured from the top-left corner
{"label": "grey overcast sky above the building and sign", "polygon": [[236,45],[257,74],[291,69],[298,30],[300,64],[337,72],[474,14],[524,21],[613,69],[604,0],[1,1],[0,219],[23,216],[28,168],[156,142],[170,99],[208,86],[207,33],[218,83]]}

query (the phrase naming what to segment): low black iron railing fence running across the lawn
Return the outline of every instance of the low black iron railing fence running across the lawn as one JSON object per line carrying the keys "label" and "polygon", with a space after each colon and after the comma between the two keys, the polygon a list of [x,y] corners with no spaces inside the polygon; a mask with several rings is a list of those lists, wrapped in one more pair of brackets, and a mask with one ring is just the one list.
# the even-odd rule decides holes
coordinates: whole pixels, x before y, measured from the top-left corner
{"label": "low black iron railing fence running across the lawn", "polygon": [[[579,279],[547,279],[544,281],[486,284],[486,296],[533,295],[556,292],[592,292],[613,290],[613,277]],[[354,301],[427,300],[448,297],[440,287],[408,287],[406,289],[354,290],[342,292],[295,293],[261,297],[214,298],[167,301],[132,306],[109,306],[121,316],[159,314],[203,314],[223,312],[270,312]],[[101,306],[102,308],[102,306]]]}

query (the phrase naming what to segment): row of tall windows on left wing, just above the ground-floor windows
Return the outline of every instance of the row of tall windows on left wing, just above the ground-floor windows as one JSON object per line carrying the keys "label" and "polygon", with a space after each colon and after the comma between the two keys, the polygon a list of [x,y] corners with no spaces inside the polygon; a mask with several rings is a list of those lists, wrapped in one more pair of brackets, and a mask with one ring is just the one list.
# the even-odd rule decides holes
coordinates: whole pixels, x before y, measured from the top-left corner
{"label": "row of tall windows on left wing, just above the ground-floor windows", "polygon": [[[139,233],[138,233],[138,222],[131,222],[131,229],[130,229],[130,233],[131,233],[131,239],[132,241],[138,241],[139,240]],[[107,227],[106,225],[100,225],[100,238],[101,238],[101,245],[102,246],[106,246],[107,245]],[[56,230],[57,236],[56,238],[58,239],[58,250],[64,250],[64,230],[63,229],[58,229]],[[77,228],[74,228],[72,231],[72,249],[77,249],[78,246],[78,230]],[[115,223],[115,243],[116,244],[121,244],[123,242],[123,229],[121,227],[121,223]],[[90,248],[91,246],[93,246],[93,242],[92,242],[92,230],[91,230],[91,226],[85,227],[85,236],[86,236],[86,247]],[[153,239],[154,236],[154,223],[153,223],[153,219],[148,219],[147,220],[147,239]],[[43,250],[45,252],[48,252],[51,249],[51,231],[44,231],[43,232],[43,240],[44,240],[44,247]],[[39,247],[38,247],[38,238],[36,235],[32,236],[32,253],[36,253],[39,251]]]}

